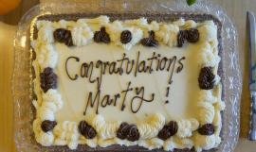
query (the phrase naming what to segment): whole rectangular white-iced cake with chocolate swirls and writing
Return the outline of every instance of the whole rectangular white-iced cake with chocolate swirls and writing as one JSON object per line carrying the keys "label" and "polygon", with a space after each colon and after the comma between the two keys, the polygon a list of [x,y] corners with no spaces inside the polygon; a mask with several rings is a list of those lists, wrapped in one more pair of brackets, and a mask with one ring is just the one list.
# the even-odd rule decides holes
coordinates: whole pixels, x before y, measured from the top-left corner
{"label": "whole rectangular white-iced cake with chocolate swirls and writing", "polygon": [[43,146],[210,150],[221,143],[212,20],[35,21],[34,138]]}

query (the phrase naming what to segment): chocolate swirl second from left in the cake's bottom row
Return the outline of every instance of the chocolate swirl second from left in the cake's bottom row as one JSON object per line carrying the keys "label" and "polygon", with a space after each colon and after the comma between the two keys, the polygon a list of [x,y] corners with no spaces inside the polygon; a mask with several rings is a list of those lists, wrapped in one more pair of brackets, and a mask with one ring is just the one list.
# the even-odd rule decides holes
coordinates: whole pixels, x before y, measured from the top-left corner
{"label": "chocolate swirl second from left in the cake's bottom row", "polygon": [[93,139],[97,135],[96,130],[85,121],[80,122],[79,131],[86,139]]}

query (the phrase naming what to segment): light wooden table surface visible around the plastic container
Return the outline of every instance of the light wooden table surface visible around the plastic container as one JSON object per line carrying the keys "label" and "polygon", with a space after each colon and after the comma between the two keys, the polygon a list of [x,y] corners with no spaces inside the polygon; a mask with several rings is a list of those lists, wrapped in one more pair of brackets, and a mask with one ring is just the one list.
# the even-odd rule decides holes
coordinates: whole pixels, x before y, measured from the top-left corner
{"label": "light wooden table surface visible around the plastic container", "polygon": [[[21,16],[28,8],[39,3],[39,0],[24,0],[20,6],[9,14],[0,16],[0,21],[10,25],[17,25]],[[246,32],[246,12],[252,10],[256,12],[255,0],[212,0],[212,3],[221,5],[227,10],[231,20],[237,27],[239,34],[239,55],[241,72],[243,75],[243,93],[241,99],[241,137],[247,137],[249,124],[249,92],[248,92],[248,53],[247,53],[247,32]],[[14,28],[14,27],[13,27]],[[11,73],[13,52],[6,50],[8,43],[0,46],[0,151],[15,152],[12,132],[12,98],[11,98]],[[242,86],[241,86],[242,87]],[[245,143],[245,144],[244,144]],[[250,144],[250,145],[249,145]],[[256,144],[248,143],[243,140],[237,152],[245,147],[255,149]],[[252,147],[253,146],[253,147]],[[245,149],[243,150],[245,151]],[[246,150],[249,151],[249,150]],[[252,152],[252,151],[251,151]]]}

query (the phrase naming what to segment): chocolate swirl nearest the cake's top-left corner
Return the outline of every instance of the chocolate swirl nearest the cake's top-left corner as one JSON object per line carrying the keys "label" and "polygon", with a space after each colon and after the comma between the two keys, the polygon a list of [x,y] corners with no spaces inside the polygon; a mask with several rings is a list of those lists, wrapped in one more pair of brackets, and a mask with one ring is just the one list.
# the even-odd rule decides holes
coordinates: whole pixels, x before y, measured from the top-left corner
{"label": "chocolate swirl nearest the cake's top-left corner", "polygon": [[72,35],[71,31],[64,29],[64,28],[57,28],[53,32],[53,37],[56,42],[63,42],[67,46],[72,46],[73,41],[72,41]]}

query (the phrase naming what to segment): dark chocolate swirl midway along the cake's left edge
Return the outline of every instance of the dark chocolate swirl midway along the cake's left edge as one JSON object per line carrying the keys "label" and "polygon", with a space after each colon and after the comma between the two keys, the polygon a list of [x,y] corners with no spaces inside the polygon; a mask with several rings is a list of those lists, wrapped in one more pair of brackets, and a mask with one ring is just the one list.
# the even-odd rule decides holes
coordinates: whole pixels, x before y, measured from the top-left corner
{"label": "dark chocolate swirl midway along the cake's left edge", "polygon": [[54,74],[52,68],[47,67],[44,72],[40,74],[41,89],[46,93],[49,89],[57,88],[57,75]]}

